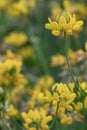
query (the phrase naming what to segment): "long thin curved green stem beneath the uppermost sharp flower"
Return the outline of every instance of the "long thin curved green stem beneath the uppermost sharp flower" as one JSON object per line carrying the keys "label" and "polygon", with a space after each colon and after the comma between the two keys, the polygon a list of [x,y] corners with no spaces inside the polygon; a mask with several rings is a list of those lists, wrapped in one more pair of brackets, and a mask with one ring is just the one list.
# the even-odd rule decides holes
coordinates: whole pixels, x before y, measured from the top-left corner
{"label": "long thin curved green stem beneath the uppermost sharp flower", "polygon": [[70,66],[70,62],[69,62],[69,59],[68,59],[68,55],[67,55],[68,49],[67,49],[67,42],[66,42],[66,33],[64,33],[64,50],[65,50],[65,57],[66,57],[66,63],[68,65],[69,74],[70,74],[70,76],[72,78],[72,81],[75,83],[75,86],[76,86],[77,90],[79,90],[80,93],[81,93],[79,84],[78,84],[77,80],[74,79],[73,72],[72,72],[72,69],[71,69],[71,66]]}

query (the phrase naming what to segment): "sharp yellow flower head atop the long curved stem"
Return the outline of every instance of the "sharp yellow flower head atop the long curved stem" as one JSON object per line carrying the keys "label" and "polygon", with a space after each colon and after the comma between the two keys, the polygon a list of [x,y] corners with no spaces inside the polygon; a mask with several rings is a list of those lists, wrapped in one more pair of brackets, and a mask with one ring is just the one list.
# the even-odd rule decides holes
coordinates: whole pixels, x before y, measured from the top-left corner
{"label": "sharp yellow flower head atop the long curved stem", "polygon": [[51,30],[52,34],[59,36],[62,33],[72,35],[73,31],[80,31],[82,29],[83,21],[76,21],[75,14],[64,12],[59,15],[55,21],[48,18],[49,23],[45,24],[45,28]]}

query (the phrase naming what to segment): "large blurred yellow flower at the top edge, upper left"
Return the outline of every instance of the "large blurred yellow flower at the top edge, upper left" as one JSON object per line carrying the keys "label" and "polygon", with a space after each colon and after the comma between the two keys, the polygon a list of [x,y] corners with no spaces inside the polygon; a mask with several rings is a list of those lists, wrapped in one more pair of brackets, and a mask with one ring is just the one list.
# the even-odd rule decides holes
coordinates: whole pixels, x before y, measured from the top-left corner
{"label": "large blurred yellow flower at the top edge, upper left", "polygon": [[9,16],[23,16],[29,14],[35,7],[36,0],[17,0],[10,2],[10,8],[7,8]]}

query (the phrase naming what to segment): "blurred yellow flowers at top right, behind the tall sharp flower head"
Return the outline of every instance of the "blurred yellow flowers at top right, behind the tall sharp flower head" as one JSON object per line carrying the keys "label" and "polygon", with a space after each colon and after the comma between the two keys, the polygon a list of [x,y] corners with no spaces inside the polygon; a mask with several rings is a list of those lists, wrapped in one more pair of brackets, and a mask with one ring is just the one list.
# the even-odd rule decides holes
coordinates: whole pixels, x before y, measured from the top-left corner
{"label": "blurred yellow flowers at top right, behind the tall sharp flower head", "polygon": [[83,2],[74,2],[70,0],[63,0],[62,1],[63,8],[61,8],[58,2],[53,2],[51,6],[51,17],[55,19],[59,13],[63,11],[70,12],[71,14],[75,13],[78,19],[86,19],[86,10],[87,5]]}

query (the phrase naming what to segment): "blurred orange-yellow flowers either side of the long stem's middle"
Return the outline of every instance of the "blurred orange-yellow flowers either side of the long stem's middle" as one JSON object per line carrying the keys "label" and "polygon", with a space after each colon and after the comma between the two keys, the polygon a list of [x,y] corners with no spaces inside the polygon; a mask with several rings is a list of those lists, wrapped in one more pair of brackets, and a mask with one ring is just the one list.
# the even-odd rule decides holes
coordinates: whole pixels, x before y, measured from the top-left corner
{"label": "blurred orange-yellow flowers either side of the long stem's middle", "polygon": [[[73,51],[72,49],[68,50],[68,57],[70,60],[71,65],[75,65],[76,63],[79,63],[82,60],[86,60],[87,53],[83,50],[77,50]],[[51,66],[64,66],[66,65],[66,59],[64,55],[56,54],[51,57]]]}

